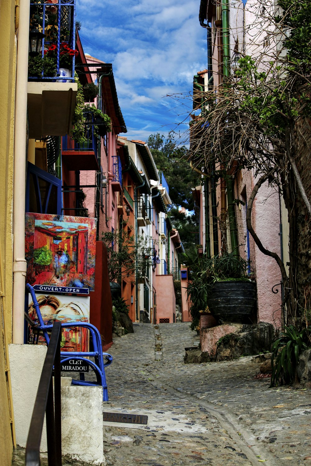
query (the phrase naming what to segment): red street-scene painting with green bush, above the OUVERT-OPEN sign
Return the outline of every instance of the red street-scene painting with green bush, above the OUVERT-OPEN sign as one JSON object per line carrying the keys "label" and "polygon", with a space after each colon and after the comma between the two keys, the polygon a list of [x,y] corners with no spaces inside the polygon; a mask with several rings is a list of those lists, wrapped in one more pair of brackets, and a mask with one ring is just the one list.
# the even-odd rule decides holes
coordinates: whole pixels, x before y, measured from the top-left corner
{"label": "red street-scene painting with green bush, above the OUVERT-OPEN sign", "polygon": [[26,213],[25,245],[28,283],[94,291],[96,219]]}

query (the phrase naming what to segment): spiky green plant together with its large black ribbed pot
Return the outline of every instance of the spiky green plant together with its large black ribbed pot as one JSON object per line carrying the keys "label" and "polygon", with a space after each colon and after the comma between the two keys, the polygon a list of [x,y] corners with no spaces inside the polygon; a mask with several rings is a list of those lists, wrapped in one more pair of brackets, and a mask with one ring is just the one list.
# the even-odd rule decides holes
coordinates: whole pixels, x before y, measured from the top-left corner
{"label": "spiky green plant together with its large black ribbed pot", "polygon": [[200,311],[207,308],[219,322],[250,323],[256,306],[256,285],[249,280],[249,262],[232,253],[198,257],[196,248],[183,256],[189,269],[187,295],[191,328],[199,324]]}

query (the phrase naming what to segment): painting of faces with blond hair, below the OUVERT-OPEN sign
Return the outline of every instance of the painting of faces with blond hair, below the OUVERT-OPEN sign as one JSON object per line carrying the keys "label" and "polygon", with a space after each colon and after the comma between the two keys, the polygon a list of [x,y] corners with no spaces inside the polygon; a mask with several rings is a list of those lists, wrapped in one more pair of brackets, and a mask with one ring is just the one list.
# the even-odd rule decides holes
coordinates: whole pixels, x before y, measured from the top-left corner
{"label": "painting of faces with blond hair, below the OUVERT-OPEN sign", "polygon": [[[90,322],[90,297],[89,296],[65,296],[36,294],[41,316],[45,325],[53,325],[54,321],[67,322]],[[29,295],[28,315],[39,325],[39,320],[33,308],[33,301]],[[28,342],[33,343],[34,335],[29,328]],[[44,337],[39,336],[39,343],[45,344]],[[62,351],[88,351],[89,330],[70,327],[62,330]]]}

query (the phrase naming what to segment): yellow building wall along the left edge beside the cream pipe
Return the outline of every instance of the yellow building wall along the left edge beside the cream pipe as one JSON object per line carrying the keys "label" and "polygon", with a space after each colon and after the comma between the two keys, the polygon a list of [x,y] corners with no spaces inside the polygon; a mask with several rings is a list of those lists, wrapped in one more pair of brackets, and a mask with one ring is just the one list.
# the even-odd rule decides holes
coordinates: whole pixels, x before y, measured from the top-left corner
{"label": "yellow building wall along the left edge beside the cream pipe", "polygon": [[[0,244],[6,296],[8,343],[12,341],[13,276],[13,170],[14,170],[14,95],[16,69],[15,2],[0,0]],[[0,319],[2,336],[2,319]],[[0,338],[0,445],[1,466],[11,465],[12,435],[5,374],[3,338]],[[5,445],[5,446],[4,446]],[[4,447],[4,448],[3,448]]]}

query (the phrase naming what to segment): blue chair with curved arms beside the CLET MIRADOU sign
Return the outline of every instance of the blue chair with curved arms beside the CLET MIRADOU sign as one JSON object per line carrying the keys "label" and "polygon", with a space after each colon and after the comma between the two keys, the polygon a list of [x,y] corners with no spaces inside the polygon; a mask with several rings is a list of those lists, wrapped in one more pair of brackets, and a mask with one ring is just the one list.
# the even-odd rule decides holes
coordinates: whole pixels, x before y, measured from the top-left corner
{"label": "blue chair with curved arms beside the CLET MIRADOU sign", "polygon": [[[53,325],[44,325],[39,304],[37,302],[37,298],[35,296],[34,288],[27,283],[26,288],[28,289],[32,300],[33,300],[33,307],[35,308],[38,320],[40,325],[36,328],[37,331],[42,332],[44,339],[49,344],[50,338],[48,333],[51,332]],[[61,363],[66,363],[73,357],[80,359],[81,361],[89,364],[92,370],[94,370],[96,374],[97,381],[90,382],[83,380],[84,373],[80,373],[80,380],[72,380],[72,385],[102,385],[103,387],[103,399],[104,401],[108,401],[108,391],[107,391],[107,383],[106,383],[106,376],[105,376],[105,367],[109,366],[112,363],[112,356],[109,353],[103,353],[103,346],[102,346],[102,339],[100,336],[99,331],[97,330],[94,325],[89,322],[66,322],[62,323],[62,329],[68,328],[86,328],[90,331],[90,335],[92,337],[92,345],[93,351],[61,351]],[[94,362],[90,359],[86,359],[86,356],[94,357]],[[105,361],[104,361],[105,360]]]}

